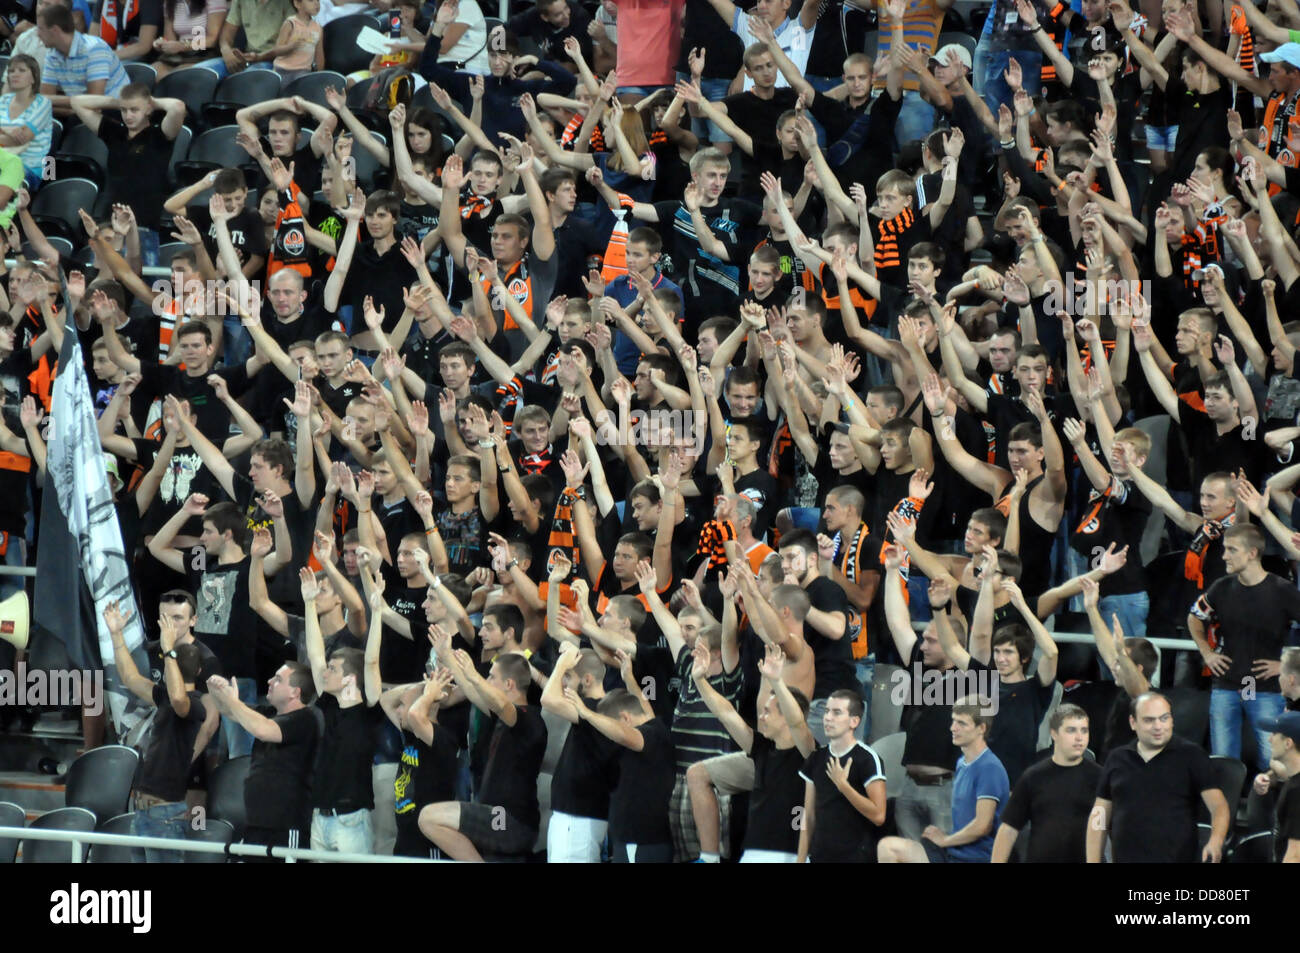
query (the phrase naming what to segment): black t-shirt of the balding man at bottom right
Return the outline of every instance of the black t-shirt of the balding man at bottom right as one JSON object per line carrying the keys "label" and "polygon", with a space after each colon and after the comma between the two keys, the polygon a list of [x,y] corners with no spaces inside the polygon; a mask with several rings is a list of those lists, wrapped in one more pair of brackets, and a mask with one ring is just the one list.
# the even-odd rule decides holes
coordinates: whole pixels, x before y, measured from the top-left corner
{"label": "black t-shirt of the balding man at bottom right", "polygon": [[1115,863],[1196,863],[1196,815],[1201,792],[1210,788],[1209,754],[1176,735],[1150,761],[1138,753],[1136,741],[1113,750],[1097,797],[1112,802]]}

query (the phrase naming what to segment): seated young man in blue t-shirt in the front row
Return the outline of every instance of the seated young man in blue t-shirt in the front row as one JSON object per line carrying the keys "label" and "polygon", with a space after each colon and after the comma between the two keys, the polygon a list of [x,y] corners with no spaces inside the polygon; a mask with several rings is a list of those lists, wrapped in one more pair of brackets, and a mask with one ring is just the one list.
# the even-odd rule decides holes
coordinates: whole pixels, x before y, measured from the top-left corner
{"label": "seated young man in blue t-shirt in the front row", "polygon": [[993,712],[979,698],[953,705],[953,744],[962,749],[953,780],[953,832],[931,824],[920,841],[885,837],[876,849],[880,863],[988,863],[997,819],[1011,794],[1006,768],[985,737]]}

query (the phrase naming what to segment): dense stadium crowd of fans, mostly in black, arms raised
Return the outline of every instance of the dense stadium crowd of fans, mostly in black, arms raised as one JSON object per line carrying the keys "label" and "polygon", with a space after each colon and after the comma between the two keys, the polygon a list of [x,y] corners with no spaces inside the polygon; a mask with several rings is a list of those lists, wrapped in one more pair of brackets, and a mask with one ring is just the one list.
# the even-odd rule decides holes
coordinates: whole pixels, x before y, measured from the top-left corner
{"label": "dense stadium crowd of fans, mostly in black, arms raised", "polygon": [[1295,0],[5,7],[0,553],[70,315],[136,831],[1300,861]]}

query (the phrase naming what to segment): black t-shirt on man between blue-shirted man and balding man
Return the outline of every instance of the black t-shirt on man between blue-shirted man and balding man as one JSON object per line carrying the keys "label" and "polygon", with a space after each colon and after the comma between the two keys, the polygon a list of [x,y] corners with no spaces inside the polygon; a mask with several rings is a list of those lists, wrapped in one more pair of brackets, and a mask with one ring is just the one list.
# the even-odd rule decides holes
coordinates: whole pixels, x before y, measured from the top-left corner
{"label": "black t-shirt on man between blue-shirted man and balding man", "polygon": [[1002,811],[1002,823],[1030,824],[1030,863],[1083,863],[1088,815],[1097,798],[1101,766],[1084,758],[1065,767],[1048,758],[1028,768]]}

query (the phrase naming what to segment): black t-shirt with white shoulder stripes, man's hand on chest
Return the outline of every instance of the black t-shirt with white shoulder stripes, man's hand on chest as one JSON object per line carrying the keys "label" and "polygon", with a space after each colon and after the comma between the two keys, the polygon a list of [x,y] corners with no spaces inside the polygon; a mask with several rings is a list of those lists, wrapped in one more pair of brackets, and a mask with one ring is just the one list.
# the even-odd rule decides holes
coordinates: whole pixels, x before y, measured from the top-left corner
{"label": "black t-shirt with white shoulder stripes, man's hand on chest", "polygon": [[[870,863],[876,855],[880,828],[867,820],[835,787],[826,772],[829,758],[831,749],[819,748],[809,755],[800,771],[800,777],[816,792],[809,859],[815,863]],[[885,779],[880,757],[861,741],[855,741],[853,748],[840,755],[840,763],[849,768],[849,787],[863,796],[872,781]]]}

